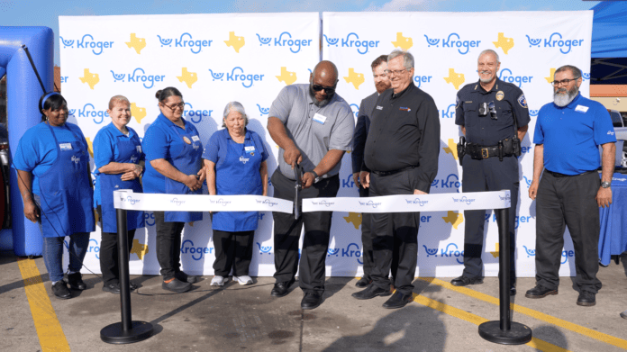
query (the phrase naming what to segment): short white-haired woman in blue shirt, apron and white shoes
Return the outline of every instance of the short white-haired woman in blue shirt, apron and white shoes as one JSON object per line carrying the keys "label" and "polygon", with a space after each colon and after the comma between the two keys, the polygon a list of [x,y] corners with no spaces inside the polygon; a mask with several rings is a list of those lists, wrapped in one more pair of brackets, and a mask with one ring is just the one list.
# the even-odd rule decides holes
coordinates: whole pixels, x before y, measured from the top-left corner
{"label": "short white-haired woman in blue shirt, apron and white shoes", "polygon": [[[268,193],[268,152],[259,134],[246,129],[248,117],[238,102],[226,104],[224,130],[216,131],[204,151],[209,194]],[[212,285],[222,286],[229,273],[239,284],[252,284],[249,276],[252,241],[259,212],[215,212],[214,278]]]}

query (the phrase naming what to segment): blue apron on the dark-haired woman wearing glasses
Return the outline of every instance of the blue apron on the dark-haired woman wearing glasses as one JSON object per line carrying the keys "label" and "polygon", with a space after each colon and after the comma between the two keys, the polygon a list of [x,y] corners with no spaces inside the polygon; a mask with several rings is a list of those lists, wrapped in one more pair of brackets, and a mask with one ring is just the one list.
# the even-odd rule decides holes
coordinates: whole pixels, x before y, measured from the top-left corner
{"label": "blue apron on the dark-haired woman wearing glasses", "polygon": [[[188,122],[186,122],[188,123]],[[179,140],[172,143],[182,143],[183,148],[176,157],[172,157],[172,165],[185,175],[196,175],[203,167],[203,143],[200,142],[197,132],[187,133],[177,125],[170,126],[177,132]],[[171,148],[170,148],[171,149]],[[167,194],[203,194],[203,190],[192,191],[185,184],[166,177]],[[203,220],[203,212],[165,212],[166,222],[187,222]]]}

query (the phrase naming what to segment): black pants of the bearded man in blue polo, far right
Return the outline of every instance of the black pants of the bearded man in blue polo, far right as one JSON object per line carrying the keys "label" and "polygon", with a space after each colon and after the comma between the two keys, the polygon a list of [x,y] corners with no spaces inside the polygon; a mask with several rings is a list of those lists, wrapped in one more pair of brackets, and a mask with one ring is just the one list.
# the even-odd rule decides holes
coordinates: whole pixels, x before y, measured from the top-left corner
{"label": "black pants of the bearded man in blue polo, far right", "polygon": [[577,286],[596,293],[599,271],[599,206],[601,180],[596,172],[555,177],[545,172],[536,198],[536,283],[557,290],[559,265],[568,226],[575,248]]}

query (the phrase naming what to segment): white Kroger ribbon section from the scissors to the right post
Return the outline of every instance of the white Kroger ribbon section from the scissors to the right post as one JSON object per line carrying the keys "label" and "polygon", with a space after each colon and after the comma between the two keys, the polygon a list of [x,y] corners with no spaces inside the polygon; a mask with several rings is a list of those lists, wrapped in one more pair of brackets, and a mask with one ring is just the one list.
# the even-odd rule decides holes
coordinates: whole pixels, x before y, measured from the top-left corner
{"label": "white Kroger ribbon section from the scissors to the right post", "polygon": [[305,198],[303,212],[442,212],[504,209],[510,191],[454,194],[402,194],[379,197]]}

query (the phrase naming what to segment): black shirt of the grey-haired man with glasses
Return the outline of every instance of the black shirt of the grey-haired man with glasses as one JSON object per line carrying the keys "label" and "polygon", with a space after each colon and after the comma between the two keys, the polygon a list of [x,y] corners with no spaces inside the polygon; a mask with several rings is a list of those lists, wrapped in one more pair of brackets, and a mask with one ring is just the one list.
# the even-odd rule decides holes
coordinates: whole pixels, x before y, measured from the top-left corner
{"label": "black shirt of the grey-haired man with glasses", "polygon": [[401,93],[387,89],[372,113],[364,149],[366,167],[393,171],[418,167],[418,189],[428,192],[438,174],[440,117],[431,95],[413,85]]}

